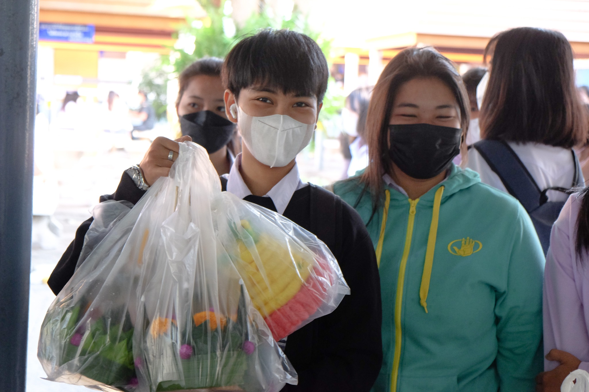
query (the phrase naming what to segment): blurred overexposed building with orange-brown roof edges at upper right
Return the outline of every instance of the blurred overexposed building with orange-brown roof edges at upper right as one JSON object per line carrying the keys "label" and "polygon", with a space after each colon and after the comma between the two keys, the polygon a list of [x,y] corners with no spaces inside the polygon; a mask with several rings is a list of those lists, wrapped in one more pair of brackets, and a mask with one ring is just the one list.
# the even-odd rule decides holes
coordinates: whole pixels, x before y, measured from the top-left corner
{"label": "blurred overexposed building with orange-brown roof edges at upper right", "polygon": [[434,46],[464,72],[482,64],[495,33],[520,26],[564,33],[578,59],[578,83],[589,83],[587,0],[316,0],[310,15],[334,39],[332,73],[348,79],[346,92],[373,85],[383,66],[409,46]]}

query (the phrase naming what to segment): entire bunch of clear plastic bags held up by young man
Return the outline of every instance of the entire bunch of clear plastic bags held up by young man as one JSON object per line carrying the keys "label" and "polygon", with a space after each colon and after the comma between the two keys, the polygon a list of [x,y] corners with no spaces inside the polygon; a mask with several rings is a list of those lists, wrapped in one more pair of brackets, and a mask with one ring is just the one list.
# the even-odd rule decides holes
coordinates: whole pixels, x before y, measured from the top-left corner
{"label": "entire bunch of clear plastic bags held up by young man", "polygon": [[141,392],[296,384],[276,340],[349,293],[326,245],[221,192],[191,142],[125,208],[94,210],[78,269],[49,307],[38,350],[48,379]]}

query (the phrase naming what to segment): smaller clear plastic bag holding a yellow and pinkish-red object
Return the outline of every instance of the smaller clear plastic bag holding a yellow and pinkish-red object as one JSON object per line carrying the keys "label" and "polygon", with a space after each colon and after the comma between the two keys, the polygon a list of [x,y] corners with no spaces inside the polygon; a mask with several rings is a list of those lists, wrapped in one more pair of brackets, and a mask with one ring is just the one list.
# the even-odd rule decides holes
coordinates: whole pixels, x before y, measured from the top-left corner
{"label": "smaller clear plastic bag holding a yellow and pinkish-red object", "polygon": [[350,290],[326,244],[276,212],[223,193],[219,239],[275,340],[331,313]]}

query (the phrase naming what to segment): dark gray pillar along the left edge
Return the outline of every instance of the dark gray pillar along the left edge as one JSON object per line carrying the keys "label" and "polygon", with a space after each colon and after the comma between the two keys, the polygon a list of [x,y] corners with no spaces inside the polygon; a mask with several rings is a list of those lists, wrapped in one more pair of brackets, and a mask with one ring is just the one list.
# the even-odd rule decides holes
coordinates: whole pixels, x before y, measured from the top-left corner
{"label": "dark gray pillar along the left edge", "polygon": [[0,391],[24,392],[37,0],[0,0]]}

